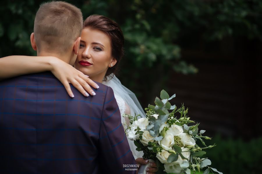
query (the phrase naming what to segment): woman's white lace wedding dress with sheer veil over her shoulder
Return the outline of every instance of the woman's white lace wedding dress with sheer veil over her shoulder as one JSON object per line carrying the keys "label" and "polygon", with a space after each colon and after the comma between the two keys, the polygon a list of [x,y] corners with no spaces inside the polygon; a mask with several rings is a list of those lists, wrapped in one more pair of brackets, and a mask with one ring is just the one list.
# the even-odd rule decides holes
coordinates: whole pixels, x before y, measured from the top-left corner
{"label": "woman's white lace wedding dress with sheer veil over her shoulder", "polygon": [[[134,116],[135,114],[140,114],[141,117],[145,117],[145,113],[141,105],[139,104],[137,97],[135,96],[132,91],[130,91],[128,88],[123,86],[119,79],[113,75],[109,75],[109,80],[103,82],[103,84],[110,86],[113,91],[116,98],[116,102],[118,104],[120,114],[121,114],[121,122],[122,124],[129,124],[129,120],[127,117],[123,117],[125,114],[131,114]],[[127,126],[123,125],[124,130],[127,128]],[[128,139],[128,138],[127,138]],[[143,151],[137,151],[137,146],[134,145],[134,141],[131,141],[128,139],[128,143],[130,146],[130,149],[132,151],[132,154],[134,156],[134,159],[143,157],[144,153]]]}

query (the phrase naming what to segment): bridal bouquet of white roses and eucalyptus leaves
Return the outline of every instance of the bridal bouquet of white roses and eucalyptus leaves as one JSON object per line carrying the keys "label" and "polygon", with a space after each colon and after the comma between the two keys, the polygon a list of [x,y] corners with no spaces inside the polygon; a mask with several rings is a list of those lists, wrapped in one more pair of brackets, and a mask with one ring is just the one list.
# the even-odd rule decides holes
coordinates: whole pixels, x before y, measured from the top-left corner
{"label": "bridal bouquet of white roses and eucalyptus leaves", "polygon": [[[128,138],[134,141],[137,151],[144,152],[144,159],[159,160],[166,173],[190,174],[190,169],[195,173],[196,169],[200,172],[200,169],[207,167],[203,174],[208,174],[210,170],[223,174],[209,167],[211,161],[208,158],[201,158],[206,154],[203,150],[215,144],[206,146],[204,139],[211,138],[203,136],[205,131],[199,131],[199,123],[190,120],[188,108],[185,109],[183,104],[180,108],[171,106],[169,100],[174,97],[175,94],[169,97],[162,90],[161,99],[155,98],[155,106],[149,104],[145,108],[146,118],[125,115],[130,120],[125,130]],[[201,142],[203,147],[196,142]]]}

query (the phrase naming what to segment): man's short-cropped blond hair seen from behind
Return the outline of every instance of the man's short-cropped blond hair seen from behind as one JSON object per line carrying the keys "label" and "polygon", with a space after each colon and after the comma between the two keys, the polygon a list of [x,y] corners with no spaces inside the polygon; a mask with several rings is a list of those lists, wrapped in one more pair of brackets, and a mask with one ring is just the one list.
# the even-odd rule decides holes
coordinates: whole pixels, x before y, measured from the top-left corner
{"label": "man's short-cropped blond hair seen from behind", "polygon": [[38,51],[64,52],[80,37],[83,16],[79,8],[63,1],[40,5],[34,23]]}

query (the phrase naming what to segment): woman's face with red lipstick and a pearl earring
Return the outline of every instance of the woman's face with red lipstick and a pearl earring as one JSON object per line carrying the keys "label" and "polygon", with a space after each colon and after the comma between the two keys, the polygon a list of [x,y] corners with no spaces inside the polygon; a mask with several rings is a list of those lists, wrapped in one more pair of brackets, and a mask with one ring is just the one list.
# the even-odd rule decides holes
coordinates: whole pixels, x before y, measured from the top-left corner
{"label": "woman's face with red lipstick and a pearl earring", "polygon": [[111,64],[114,66],[116,59],[111,56],[110,37],[100,30],[84,28],[74,67],[101,83]]}

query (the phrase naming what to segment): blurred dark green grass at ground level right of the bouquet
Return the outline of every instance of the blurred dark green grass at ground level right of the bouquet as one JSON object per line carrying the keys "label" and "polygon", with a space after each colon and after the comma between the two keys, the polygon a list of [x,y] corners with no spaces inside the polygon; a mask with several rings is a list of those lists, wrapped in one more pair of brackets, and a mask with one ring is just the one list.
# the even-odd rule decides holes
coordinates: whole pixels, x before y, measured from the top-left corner
{"label": "blurred dark green grass at ground level right of the bouquet", "polygon": [[210,167],[226,174],[257,174],[262,173],[262,137],[249,141],[243,139],[222,139],[214,137],[210,144],[217,146],[205,149],[212,164]]}

